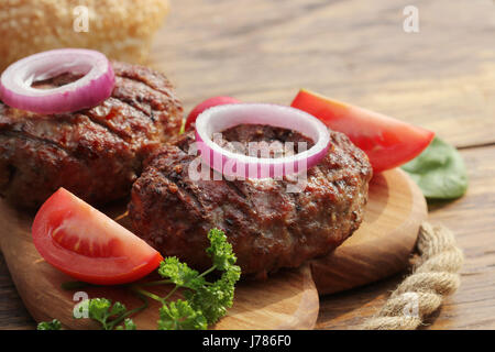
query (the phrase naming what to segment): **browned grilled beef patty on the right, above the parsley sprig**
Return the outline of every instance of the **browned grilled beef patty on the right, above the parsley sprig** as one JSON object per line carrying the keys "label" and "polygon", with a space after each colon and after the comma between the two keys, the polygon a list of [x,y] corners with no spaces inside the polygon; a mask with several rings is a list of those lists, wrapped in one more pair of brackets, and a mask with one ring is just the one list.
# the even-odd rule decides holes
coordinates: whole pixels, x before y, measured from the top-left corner
{"label": "browned grilled beef patty on the right, above the parsley sprig", "polygon": [[[328,154],[307,172],[306,188],[287,193],[290,177],[213,180],[210,169],[211,180],[193,180],[188,168],[197,156],[188,150],[195,138],[186,133],[157,150],[134,183],[129,205],[134,232],[162,254],[206,268],[207,232],[222,229],[243,275],[254,277],[328,254],[359,228],[372,177],[366,155],[344,134],[330,135]],[[223,140],[308,141],[261,125],[235,127]]]}

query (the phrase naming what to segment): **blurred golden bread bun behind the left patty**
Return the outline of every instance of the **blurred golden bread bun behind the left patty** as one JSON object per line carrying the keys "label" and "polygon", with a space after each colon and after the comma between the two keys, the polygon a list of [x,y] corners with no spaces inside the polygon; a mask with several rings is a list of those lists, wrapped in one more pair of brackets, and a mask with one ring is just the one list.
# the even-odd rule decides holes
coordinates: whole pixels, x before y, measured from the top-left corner
{"label": "blurred golden bread bun behind the left patty", "polygon": [[167,12],[168,0],[1,0],[0,72],[59,47],[94,48],[142,64]]}

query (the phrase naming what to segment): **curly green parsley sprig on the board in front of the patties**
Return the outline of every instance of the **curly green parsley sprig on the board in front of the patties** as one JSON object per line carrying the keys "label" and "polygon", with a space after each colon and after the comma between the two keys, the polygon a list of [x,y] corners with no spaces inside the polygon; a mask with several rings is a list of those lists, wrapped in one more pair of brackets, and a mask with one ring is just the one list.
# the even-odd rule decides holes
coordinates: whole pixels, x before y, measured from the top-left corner
{"label": "curly green parsley sprig on the board in front of the patties", "polygon": [[[212,266],[199,273],[182,263],[177,257],[166,257],[157,270],[163,279],[141,285],[130,285],[132,292],[143,300],[143,306],[132,310],[117,301],[112,304],[107,298],[92,298],[79,306],[79,312],[88,309],[88,317],[101,324],[103,330],[135,330],[136,326],[131,316],[147,308],[147,299],[152,298],[162,304],[160,308],[160,330],[205,330],[209,324],[216,323],[232,307],[235,284],[241,276],[241,268],[235,265],[237,257],[232,245],[227,241],[223,231],[212,229],[208,232],[210,246],[206,250],[211,257]],[[221,276],[215,280],[207,280],[206,276],[220,272]],[[165,296],[160,297],[143,287],[169,285],[174,288]],[[67,289],[79,285],[65,285]],[[185,299],[169,301],[168,299],[182,289]],[[81,315],[79,315],[81,316]],[[54,319],[51,322],[41,322],[38,330],[59,330],[61,322]]]}

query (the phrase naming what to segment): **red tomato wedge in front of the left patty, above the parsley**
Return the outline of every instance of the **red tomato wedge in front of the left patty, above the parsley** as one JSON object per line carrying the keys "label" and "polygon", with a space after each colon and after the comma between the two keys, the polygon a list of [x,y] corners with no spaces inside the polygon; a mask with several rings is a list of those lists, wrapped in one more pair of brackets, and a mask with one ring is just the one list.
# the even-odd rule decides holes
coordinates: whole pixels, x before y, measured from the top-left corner
{"label": "red tomato wedge in front of the left patty, above the parsley", "polygon": [[46,262],[97,285],[136,280],[163,260],[146,242],[64,188],[40,208],[32,234]]}

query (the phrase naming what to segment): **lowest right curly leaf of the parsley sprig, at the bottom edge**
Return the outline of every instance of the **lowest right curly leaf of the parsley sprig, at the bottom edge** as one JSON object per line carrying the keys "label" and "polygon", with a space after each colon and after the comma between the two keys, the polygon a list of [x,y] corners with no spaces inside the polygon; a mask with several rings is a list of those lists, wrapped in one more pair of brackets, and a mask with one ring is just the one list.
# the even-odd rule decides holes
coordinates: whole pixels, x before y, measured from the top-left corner
{"label": "lowest right curly leaf of the parsley sprig, at the bottom edge", "polygon": [[206,330],[207,320],[189,301],[177,299],[160,309],[158,330]]}

